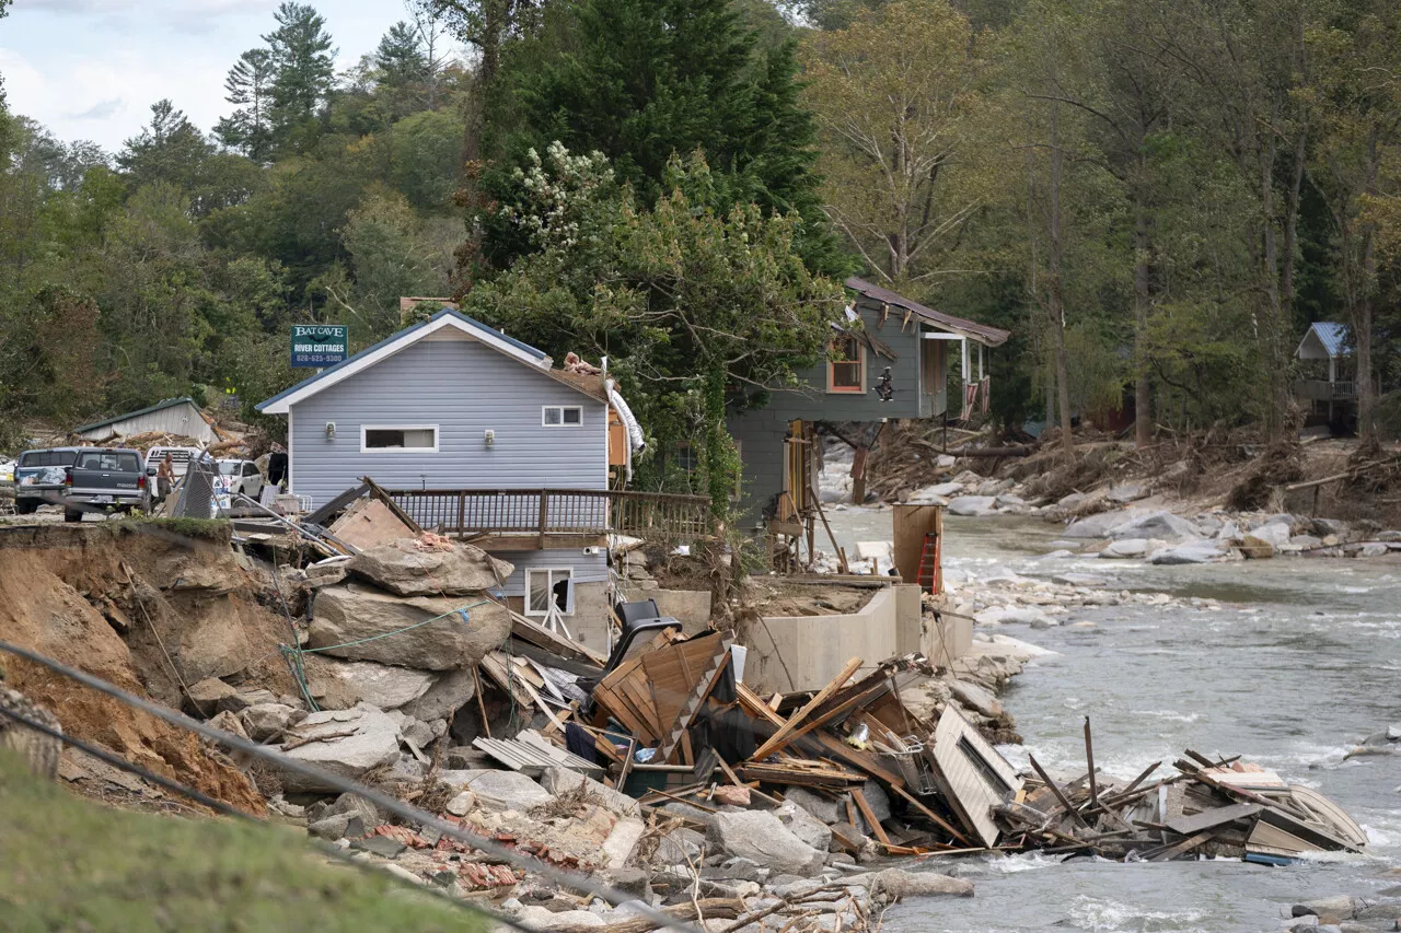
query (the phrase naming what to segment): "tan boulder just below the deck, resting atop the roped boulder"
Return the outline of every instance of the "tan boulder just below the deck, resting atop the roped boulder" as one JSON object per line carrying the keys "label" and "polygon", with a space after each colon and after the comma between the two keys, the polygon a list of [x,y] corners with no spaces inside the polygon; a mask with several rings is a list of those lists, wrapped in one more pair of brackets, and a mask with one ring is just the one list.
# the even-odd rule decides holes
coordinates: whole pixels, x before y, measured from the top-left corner
{"label": "tan boulder just below the deck, resting atop the roped boulder", "polygon": [[422,551],[416,539],[401,538],[361,551],[346,570],[396,595],[467,595],[500,584],[513,567],[469,544]]}

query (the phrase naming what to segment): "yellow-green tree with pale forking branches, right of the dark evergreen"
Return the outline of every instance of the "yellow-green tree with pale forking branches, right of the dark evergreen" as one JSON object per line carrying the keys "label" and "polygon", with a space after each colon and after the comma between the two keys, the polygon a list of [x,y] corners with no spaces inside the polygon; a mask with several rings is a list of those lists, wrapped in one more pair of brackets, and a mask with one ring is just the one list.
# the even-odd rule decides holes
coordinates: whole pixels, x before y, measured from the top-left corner
{"label": "yellow-green tree with pale forking branches, right of the dark evergreen", "polygon": [[887,3],[810,35],[804,63],[832,223],[887,283],[947,275],[986,202],[974,158],[985,66],[968,20],[946,0]]}

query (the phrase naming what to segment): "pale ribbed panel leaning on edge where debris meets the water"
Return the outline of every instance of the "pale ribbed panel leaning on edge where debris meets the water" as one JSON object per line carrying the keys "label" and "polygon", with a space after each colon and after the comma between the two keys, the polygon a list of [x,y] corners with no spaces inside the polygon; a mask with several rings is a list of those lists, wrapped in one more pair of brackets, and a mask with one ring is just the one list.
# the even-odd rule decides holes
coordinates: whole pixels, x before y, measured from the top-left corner
{"label": "pale ribbed panel leaning on edge where debris meets the water", "polygon": [[933,759],[934,779],[948,806],[982,845],[996,845],[991,808],[1021,790],[1016,769],[951,705],[934,728]]}

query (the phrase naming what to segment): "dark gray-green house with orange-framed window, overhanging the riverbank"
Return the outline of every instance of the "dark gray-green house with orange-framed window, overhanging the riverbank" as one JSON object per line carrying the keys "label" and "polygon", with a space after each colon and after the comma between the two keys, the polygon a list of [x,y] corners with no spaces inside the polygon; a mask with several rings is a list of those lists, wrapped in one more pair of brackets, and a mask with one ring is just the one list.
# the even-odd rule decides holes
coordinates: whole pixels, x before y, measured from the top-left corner
{"label": "dark gray-green house with orange-framed window, overhanging the riverbank", "polygon": [[[832,325],[829,359],[797,389],[775,389],[768,405],[738,412],[727,429],[740,447],[741,509],[750,528],[810,523],[817,422],[883,422],[985,410],[985,350],[1010,333],[934,311],[863,279],[846,280],[850,304]],[[948,368],[961,360],[976,392],[948,398]],[[969,378],[972,377],[972,378]]]}

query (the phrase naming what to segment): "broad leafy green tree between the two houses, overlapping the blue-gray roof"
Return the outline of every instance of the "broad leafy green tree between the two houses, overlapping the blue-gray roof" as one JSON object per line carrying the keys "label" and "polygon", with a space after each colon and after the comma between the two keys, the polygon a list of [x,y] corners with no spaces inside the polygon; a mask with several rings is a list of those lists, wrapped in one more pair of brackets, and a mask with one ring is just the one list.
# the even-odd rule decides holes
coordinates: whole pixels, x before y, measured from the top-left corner
{"label": "broad leafy green tree between the two houses, overlapping the blue-gray roof", "polygon": [[534,252],[474,289],[469,311],[556,357],[611,354],[649,431],[703,441],[703,488],[723,513],[738,465],[727,405],[794,384],[842,308],[841,289],[796,252],[801,221],[757,205],[716,212],[698,156],[671,160],[653,207],[601,154],[558,143],[531,153],[518,181],[503,216]]}

